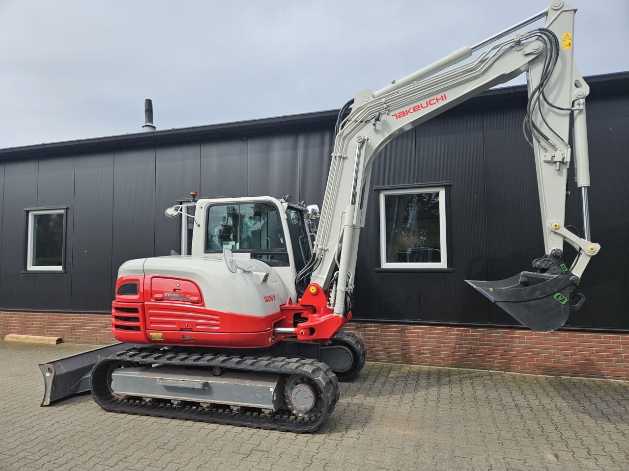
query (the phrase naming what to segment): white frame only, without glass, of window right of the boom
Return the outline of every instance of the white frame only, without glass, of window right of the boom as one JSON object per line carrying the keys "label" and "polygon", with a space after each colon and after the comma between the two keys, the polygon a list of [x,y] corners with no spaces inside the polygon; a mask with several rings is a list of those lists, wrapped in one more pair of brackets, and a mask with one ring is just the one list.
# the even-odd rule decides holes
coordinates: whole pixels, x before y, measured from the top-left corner
{"label": "white frame only, without glass, of window right of the boom", "polygon": [[[386,205],[385,199],[391,195],[415,195],[417,193],[439,193],[439,234],[441,243],[441,261],[423,263],[387,262]],[[445,187],[407,187],[380,191],[380,266],[381,268],[443,269],[448,268],[446,234]]]}

